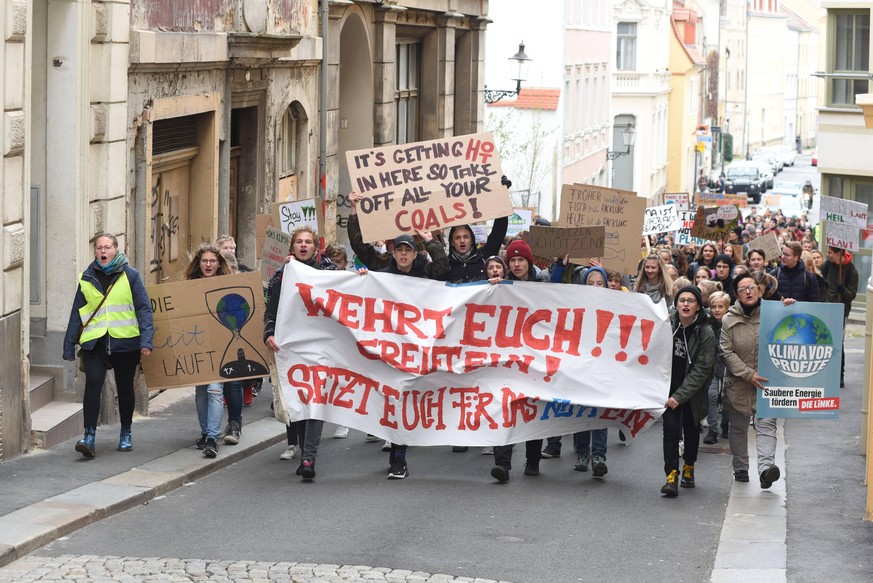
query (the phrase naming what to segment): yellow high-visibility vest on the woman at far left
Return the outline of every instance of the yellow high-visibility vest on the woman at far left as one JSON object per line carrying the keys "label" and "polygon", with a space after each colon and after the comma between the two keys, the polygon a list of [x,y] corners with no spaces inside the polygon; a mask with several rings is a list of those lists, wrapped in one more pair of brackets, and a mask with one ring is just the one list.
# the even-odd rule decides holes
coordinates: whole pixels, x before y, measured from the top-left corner
{"label": "yellow high-visibility vest on the woman at far left", "polygon": [[[88,322],[91,314],[100,306],[103,294],[90,281],[81,278],[79,288],[85,296],[85,305],[79,308],[82,324]],[[122,273],[109,291],[109,296],[88,326],[82,331],[79,344],[96,340],[109,332],[112,338],[136,338],[139,336],[139,322],[133,305],[133,293],[127,274]]]}

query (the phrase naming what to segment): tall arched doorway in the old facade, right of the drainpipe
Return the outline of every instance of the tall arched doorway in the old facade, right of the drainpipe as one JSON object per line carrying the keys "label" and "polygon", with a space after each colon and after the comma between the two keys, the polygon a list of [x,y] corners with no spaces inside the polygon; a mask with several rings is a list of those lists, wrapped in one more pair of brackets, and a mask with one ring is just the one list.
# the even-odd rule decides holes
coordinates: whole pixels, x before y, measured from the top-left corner
{"label": "tall arched doorway in the old facade, right of the drainpipe", "polygon": [[344,226],[351,210],[346,195],[352,188],[346,168],[346,152],[373,145],[373,61],[369,35],[357,13],[349,15],[343,22],[339,71],[337,239],[346,242]]}

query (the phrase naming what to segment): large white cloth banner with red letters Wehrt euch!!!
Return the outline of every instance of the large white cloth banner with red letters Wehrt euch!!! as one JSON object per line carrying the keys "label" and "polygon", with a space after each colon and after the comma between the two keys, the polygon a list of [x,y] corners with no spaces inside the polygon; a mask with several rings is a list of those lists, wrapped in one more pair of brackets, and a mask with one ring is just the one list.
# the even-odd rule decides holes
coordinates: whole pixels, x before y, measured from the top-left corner
{"label": "large white cloth banner with red letters Wehrt euch!!!", "polygon": [[663,412],[670,325],[644,294],[447,286],[296,261],[283,273],[276,365],[292,420],[484,446],[599,427],[632,438]]}

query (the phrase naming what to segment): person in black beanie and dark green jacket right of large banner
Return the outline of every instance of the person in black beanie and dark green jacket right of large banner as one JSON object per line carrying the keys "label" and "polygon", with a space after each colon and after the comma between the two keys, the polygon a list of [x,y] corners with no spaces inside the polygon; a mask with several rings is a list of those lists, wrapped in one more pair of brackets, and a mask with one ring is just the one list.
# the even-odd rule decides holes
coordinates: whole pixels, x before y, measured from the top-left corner
{"label": "person in black beanie and dark green jacket right of large banner", "polygon": [[[664,403],[664,473],[661,494],[679,495],[679,486],[694,487],[694,464],[700,447],[700,420],[706,417],[709,386],[715,369],[715,335],[709,326],[700,290],[685,286],[676,294],[670,396]],[[679,482],[679,440],[684,437],[684,464]]]}

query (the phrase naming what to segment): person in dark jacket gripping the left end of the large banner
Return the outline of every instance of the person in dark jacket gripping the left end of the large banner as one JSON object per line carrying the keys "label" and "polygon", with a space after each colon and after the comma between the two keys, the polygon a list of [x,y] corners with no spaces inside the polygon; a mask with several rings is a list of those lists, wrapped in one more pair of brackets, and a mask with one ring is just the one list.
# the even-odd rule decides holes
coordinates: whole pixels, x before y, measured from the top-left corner
{"label": "person in dark jacket gripping the left end of the large banner", "polygon": [[[318,234],[309,225],[302,225],[294,229],[291,232],[290,239],[291,253],[287,261],[299,261],[313,269],[336,269],[336,265],[329,259],[322,258],[318,254]],[[279,344],[276,343],[275,336],[276,316],[279,313],[279,299],[282,295],[282,276],[284,272],[284,267],[279,268],[267,284],[267,306],[264,310],[264,344],[273,352],[279,352]],[[297,443],[302,446],[301,461],[296,473],[304,481],[311,481],[315,478],[315,457],[318,453],[318,445],[321,443],[324,421],[321,419],[295,421],[288,428],[288,445],[294,445],[292,443],[294,440],[290,433],[293,430],[297,433]],[[294,456],[294,451],[290,447],[286,452],[290,457]],[[286,458],[288,458],[287,455]]]}

